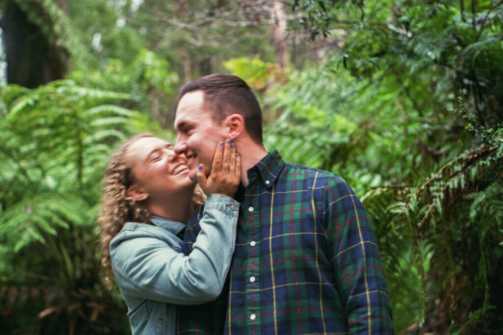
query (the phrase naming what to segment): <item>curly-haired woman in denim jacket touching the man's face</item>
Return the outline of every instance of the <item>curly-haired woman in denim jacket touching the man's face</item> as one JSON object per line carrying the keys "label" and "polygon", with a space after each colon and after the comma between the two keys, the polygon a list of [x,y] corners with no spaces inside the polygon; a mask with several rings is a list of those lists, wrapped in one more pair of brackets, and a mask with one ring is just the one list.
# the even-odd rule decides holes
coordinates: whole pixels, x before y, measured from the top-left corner
{"label": "curly-haired woman in denim jacket touching the man's face", "polygon": [[113,156],[98,218],[102,263],[119,284],[133,334],[174,333],[175,304],[220,294],[234,249],[237,156],[227,140],[217,146],[208,178],[199,166],[198,182],[208,197],[189,256],[180,252],[181,239],[202,194],[188,178],[185,156],[149,134],[131,138]]}

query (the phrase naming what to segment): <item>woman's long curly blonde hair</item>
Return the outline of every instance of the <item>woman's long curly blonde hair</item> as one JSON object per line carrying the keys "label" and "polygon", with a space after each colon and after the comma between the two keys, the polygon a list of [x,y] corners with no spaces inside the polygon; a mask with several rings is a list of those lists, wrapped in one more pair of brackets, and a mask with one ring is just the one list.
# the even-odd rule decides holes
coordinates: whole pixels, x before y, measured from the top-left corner
{"label": "woman's long curly blonde hair", "polygon": [[[110,242],[119,234],[126,222],[141,222],[152,224],[150,211],[143,201],[136,201],[127,194],[128,188],[134,184],[132,166],[128,165],[126,157],[127,149],[136,141],[154,137],[152,134],[143,133],[126,140],[112,156],[110,163],[105,169],[105,185],[101,200],[100,215],[97,225],[100,228],[101,237],[101,263],[105,268],[105,280],[112,280],[112,264],[110,259]],[[205,200],[204,193],[196,187],[194,191],[194,203],[201,204]]]}

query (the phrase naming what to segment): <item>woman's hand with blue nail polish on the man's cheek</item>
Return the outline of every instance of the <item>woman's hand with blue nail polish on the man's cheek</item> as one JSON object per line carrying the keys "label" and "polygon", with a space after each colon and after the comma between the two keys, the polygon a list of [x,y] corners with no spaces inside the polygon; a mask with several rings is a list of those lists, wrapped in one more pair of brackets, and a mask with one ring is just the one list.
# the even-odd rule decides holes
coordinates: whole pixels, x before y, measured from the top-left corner
{"label": "woman's hand with blue nail polish on the man's cheek", "polygon": [[241,179],[241,161],[230,140],[217,144],[211,173],[206,178],[205,168],[199,165],[197,181],[206,195],[219,193],[233,197]]}

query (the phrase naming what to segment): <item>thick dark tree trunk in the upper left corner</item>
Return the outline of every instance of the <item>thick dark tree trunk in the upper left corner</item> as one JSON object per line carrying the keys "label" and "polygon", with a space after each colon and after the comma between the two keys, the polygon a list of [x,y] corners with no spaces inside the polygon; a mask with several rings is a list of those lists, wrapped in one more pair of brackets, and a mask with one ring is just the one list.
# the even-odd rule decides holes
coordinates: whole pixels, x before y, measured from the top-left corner
{"label": "thick dark tree trunk in the upper left corner", "polygon": [[[51,43],[40,27],[28,21],[15,1],[4,0],[3,3],[0,28],[3,30],[7,82],[34,88],[64,78],[68,53],[60,42],[56,39]],[[65,5],[65,1],[58,0],[58,4]],[[44,13],[40,6],[32,10]]]}

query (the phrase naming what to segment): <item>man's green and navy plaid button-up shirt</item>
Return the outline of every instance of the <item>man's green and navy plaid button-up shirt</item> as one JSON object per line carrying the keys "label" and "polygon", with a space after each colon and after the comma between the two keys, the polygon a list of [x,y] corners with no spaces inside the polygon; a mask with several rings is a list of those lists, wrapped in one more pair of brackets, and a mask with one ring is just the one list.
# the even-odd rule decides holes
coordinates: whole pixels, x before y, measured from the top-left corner
{"label": "man's green and navy plaid button-up shirt", "polygon": [[[393,333],[372,223],[334,173],[270,152],[248,170],[222,295],[180,309],[180,333]],[[188,224],[190,253],[202,209]],[[197,310],[197,311],[196,311]]]}

